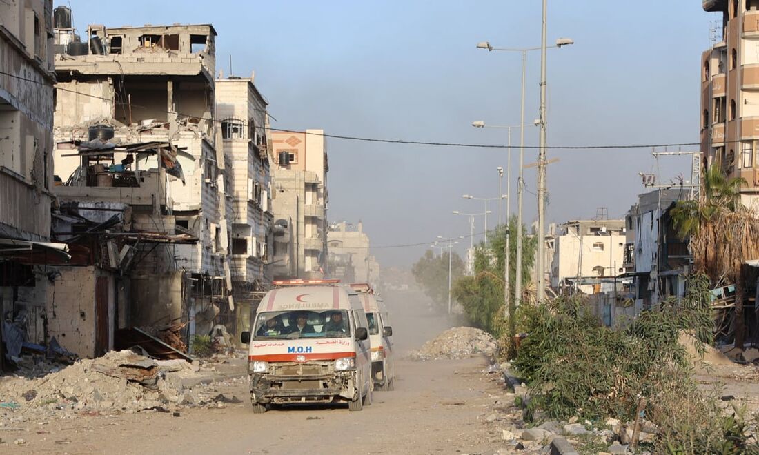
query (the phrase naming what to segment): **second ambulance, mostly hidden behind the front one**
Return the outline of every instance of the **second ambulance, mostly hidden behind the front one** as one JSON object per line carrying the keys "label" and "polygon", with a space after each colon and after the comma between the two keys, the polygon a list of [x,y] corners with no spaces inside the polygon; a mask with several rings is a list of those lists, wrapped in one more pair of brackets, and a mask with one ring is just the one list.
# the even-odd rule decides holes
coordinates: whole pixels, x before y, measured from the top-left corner
{"label": "second ambulance, mostly hidden behind the front one", "polygon": [[369,284],[354,283],[369,322],[369,339],[372,344],[372,378],[379,390],[395,390],[395,359],[392,348],[392,327],[382,299],[374,295]]}

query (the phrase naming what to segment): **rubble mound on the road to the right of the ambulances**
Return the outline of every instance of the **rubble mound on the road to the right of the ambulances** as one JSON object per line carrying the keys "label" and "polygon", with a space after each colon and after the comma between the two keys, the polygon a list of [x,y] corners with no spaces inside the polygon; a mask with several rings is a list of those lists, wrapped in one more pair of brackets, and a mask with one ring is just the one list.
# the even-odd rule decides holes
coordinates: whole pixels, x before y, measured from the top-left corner
{"label": "rubble mound on the road to the right of the ambulances", "polygon": [[486,331],[455,327],[427,341],[420,350],[412,351],[409,356],[414,360],[467,359],[478,355],[494,356],[496,350],[496,340]]}

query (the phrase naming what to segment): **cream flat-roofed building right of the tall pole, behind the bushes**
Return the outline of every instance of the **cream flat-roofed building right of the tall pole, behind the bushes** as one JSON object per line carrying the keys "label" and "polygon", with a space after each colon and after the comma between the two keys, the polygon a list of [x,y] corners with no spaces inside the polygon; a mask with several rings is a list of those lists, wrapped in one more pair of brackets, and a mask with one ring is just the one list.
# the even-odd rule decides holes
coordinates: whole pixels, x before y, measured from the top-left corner
{"label": "cream flat-roofed building right of the tall pole, behind the bushes", "polygon": [[[577,220],[561,224],[553,236],[550,283],[555,290],[581,278],[613,278],[622,274],[625,220]],[[583,287],[593,293],[592,287]]]}

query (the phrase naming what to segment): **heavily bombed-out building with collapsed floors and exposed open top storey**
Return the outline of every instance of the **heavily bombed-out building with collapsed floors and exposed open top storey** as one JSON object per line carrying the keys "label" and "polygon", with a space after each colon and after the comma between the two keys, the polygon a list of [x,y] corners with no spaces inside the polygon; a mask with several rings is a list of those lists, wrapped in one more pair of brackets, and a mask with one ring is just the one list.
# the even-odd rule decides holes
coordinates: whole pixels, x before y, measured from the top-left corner
{"label": "heavily bombed-out building with collapsed floors and exposed open top storey", "polygon": [[[88,203],[110,195],[130,207],[124,221],[131,231],[197,238],[137,245],[128,325],[182,320],[188,333],[203,333],[203,322],[234,308],[228,295],[225,157],[216,149],[216,31],[207,24],[91,25],[83,42],[71,28],[55,31],[58,193]],[[71,145],[97,137],[131,144],[133,151],[165,144],[171,153],[114,153],[83,165]],[[160,172],[167,159],[175,159],[175,172]]]}

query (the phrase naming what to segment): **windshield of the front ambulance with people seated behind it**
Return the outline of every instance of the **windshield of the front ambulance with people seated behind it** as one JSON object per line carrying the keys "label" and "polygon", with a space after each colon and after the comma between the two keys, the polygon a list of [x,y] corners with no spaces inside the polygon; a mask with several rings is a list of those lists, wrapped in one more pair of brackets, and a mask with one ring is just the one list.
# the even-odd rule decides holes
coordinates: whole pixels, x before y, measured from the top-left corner
{"label": "windshield of the front ambulance with people seated behind it", "polygon": [[255,339],[342,338],[351,335],[348,311],[271,311],[258,315]]}

